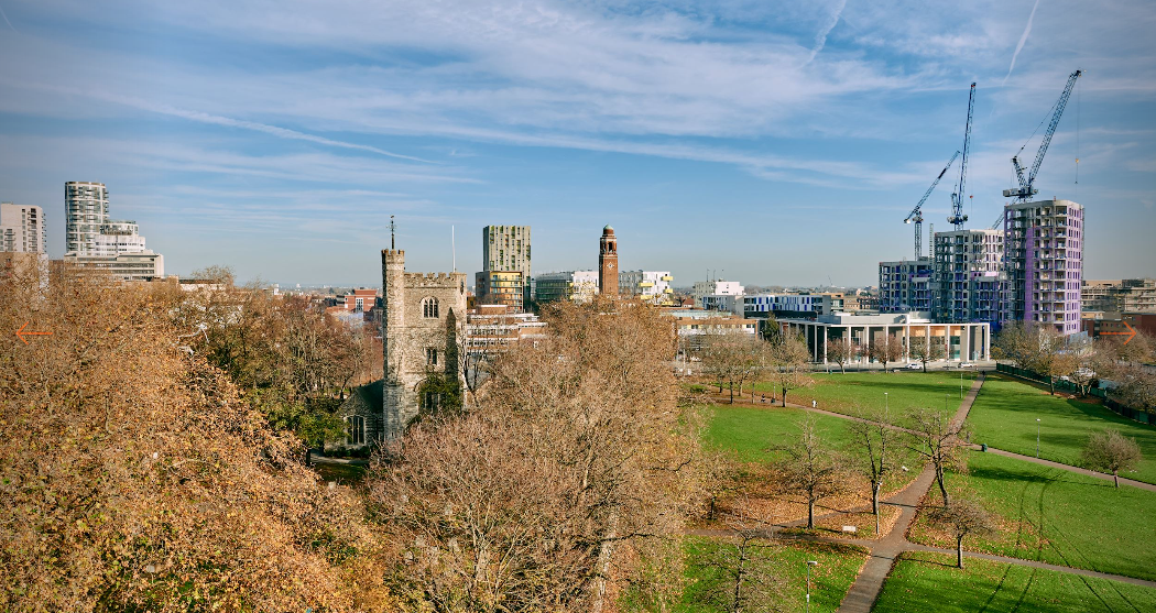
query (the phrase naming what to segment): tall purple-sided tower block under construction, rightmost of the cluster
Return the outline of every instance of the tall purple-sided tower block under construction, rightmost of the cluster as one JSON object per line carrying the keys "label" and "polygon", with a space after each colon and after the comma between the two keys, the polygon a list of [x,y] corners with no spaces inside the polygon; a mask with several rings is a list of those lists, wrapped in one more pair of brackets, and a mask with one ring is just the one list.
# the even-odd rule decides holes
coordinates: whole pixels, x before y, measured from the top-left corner
{"label": "tall purple-sided tower block under construction, rightmost of the cluster", "polygon": [[1003,249],[1003,320],[1047,323],[1061,334],[1079,332],[1083,207],[1070,200],[1006,206]]}

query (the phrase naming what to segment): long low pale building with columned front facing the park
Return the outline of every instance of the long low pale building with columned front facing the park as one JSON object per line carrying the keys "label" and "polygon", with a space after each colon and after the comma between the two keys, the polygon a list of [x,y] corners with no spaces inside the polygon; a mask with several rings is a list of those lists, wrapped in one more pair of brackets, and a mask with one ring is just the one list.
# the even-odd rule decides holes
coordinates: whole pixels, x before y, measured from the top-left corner
{"label": "long low pale building with columned front facing the park", "polygon": [[784,334],[800,334],[812,361],[827,363],[828,341],[858,347],[857,363],[869,363],[872,345],[898,340],[903,356],[910,360],[911,342],[928,339],[943,347],[946,360],[987,361],[991,359],[992,328],[986,322],[936,323],[927,313],[850,315],[832,313],[810,319],[779,319]]}

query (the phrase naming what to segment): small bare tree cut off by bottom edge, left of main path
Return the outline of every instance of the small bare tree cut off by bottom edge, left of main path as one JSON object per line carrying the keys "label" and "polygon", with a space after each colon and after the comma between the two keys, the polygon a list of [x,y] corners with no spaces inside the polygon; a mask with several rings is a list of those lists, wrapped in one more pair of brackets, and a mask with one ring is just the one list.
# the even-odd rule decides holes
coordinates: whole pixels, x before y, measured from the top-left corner
{"label": "small bare tree cut off by bottom edge, left of main path", "polygon": [[695,604],[728,613],[784,611],[784,581],[776,568],[776,547],[762,538],[763,526],[746,518],[726,522],[733,536],[696,552],[691,563],[705,577],[688,590]]}

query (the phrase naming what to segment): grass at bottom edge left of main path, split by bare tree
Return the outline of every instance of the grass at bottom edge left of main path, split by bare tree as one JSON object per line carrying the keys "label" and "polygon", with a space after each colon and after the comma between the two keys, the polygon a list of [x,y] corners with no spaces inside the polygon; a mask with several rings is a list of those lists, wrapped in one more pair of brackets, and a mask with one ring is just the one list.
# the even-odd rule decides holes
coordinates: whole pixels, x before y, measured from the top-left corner
{"label": "grass at bottom edge left of main path, split by bare tree", "polygon": [[[686,613],[709,613],[720,611],[714,607],[696,604],[696,596],[703,593],[716,582],[724,581],[718,569],[696,564],[711,548],[720,541],[695,538],[687,542],[687,578],[690,584],[683,593],[681,606],[675,611]],[[807,561],[814,560],[818,566],[812,568],[810,575],[810,610],[814,613],[835,611],[851,588],[859,568],[867,560],[867,552],[859,547],[846,545],[829,545],[822,542],[792,542],[779,546],[772,555],[772,573],[784,582],[783,608],[785,611],[802,611],[807,601]]]}

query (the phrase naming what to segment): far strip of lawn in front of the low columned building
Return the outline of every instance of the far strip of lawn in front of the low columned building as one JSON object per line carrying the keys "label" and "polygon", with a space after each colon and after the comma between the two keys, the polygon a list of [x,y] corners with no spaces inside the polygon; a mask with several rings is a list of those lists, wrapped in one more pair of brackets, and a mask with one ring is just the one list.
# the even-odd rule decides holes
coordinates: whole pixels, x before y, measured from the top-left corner
{"label": "far strip of lawn in front of the low columned building", "polygon": [[[912,407],[933,407],[955,413],[962,401],[959,397],[961,372],[963,374],[963,391],[966,393],[971,387],[971,381],[976,377],[976,374],[971,371],[866,371],[845,375],[816,372],[814,375],[815,385],[788,390],[787,401],[810,405],[810,401],[815,400],[818,408],[824,411],[851,414],[855,407],[883,408],[885,400],[887,407],[896,420]],[[772,387],[773,385],[770,383],[759,383],[756,390],[769,394]]]}

